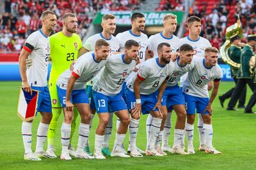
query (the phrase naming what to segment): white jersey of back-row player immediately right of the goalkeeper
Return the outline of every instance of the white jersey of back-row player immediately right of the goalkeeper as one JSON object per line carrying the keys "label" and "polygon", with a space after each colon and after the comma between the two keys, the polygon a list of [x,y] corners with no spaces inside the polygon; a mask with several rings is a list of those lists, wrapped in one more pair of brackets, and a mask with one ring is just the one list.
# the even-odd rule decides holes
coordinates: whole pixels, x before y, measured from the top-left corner
{"label": "white jersey of back-row player immediately right of the goalkeeper", "polygon": [[[105,39],[109,43],[111,52],[118,52],[119,51],[119,48],[120,48],[119,40],[113,35],[111,35],[111,38],[106,39],[102,35],[102,32],[99,33],[99,34],[95,34],[93,36],[90,36],[88,39],[86,39],[86,41],[83,45],[84,48],[86,48],[86,50],[89,50],[91,52],[94,51],[95,43],[99,39]],[[99,80],[100,74],[102,74],[102,71],[100,71],[100,73],[97,74],[97,76],[95,76],[95,78],[93,78],[91,81],[88,81],[87,85],[93,86],[95,84],[95,82]]]}

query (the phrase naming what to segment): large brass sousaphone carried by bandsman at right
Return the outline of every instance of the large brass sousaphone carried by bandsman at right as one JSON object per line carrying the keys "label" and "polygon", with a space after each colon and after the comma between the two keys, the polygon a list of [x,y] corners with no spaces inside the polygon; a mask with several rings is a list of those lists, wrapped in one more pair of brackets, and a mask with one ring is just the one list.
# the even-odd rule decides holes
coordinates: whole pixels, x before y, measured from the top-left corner
{"label": "large brass sousaphone carried by bandsman at right", "polygon": [[237,34],[240,38],[243,38],[243,32],[242,32],[242,25],[240,18],[238,16],[237,22],[234,25],[230,25],[226,29],[226,41],[223,45],[220,47],[220,55],[221,59],[228,65],[238,69],[240,67],[239,63],[234,62],[233,60],[230,59],[228,56],[228,48],[230,48],[231,41],[230,38],[234,35]]}

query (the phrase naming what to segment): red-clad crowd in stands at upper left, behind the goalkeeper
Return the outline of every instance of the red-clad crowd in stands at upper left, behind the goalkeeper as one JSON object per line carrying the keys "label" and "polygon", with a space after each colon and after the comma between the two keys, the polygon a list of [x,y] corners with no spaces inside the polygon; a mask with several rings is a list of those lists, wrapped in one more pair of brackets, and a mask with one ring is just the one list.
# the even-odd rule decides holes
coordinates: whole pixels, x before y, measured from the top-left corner
{"label": "red-clad crowd in stands at upper left, behind the goalkeeper", "polygon": [[61,31],[61,16],[67,12],[77,15],[78,30],[81,38],[92,22],[97,11],[134,10],[140,4],[139,0],[47,0],[47,1],[4,1],[4,13],[0,13],[0,52],[19,52],[25,38],[40,27],[40,14],[44,10],[52,10],[58,17],[56,32]]}

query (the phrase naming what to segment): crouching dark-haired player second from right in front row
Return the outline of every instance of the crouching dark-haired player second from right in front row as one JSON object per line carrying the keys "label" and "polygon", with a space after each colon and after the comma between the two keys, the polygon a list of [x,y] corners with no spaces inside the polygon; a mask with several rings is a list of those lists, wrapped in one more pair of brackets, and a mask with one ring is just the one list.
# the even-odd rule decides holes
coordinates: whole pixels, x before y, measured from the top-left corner
{"label": "crouching dark-haired player second from right in front row", "polygon": [[[174,129],[174,141],[173,141],[173,148],[169,150],[172,153],[178,153],[182,155],[187,155],[188,153],[184,152],[183,146],[180,145],[184,139],[185,134],[185,124],[186,124],[186,109],[185,109],[185,99],[180,90],[178,82],[180,81],[180,77],[183,76],[188,71],[193,69],[194,64],[192,62],[194,54],[194,49],[191,45],[184,44],[179,48],[179,57],[173,63],[173,73],[168,76],[166,81],[166,89],[164,90],[163,94],[163,121],[161,124],[160,132],[157,136],[156,140],[156,150],[159,153],[164,154],[164,147],[166,145],[162,145],[162,150],[160,148],[161,139],[163,136],[164,128],[170,127],[171,115],[172,110],[175,110],[177,114],[177,122]],[[168,114],[167,114],[168,113]],[[147,124],[152,124],[152,122],[148,122]],[[170,131],[169,131],[170,133]]]}

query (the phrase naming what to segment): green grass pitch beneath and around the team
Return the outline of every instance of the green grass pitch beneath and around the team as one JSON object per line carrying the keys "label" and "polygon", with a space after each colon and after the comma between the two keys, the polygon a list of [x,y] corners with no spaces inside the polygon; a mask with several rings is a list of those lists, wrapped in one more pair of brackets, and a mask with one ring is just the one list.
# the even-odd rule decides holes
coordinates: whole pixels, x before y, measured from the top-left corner
{"label": "green grass pitch beneath and around the team", "polygon": [[[214,101],[212,124],[214,128],[213,144],[222,155],[206,154],[198,152],[198,132],[195,125],[194,146],[196,153],[193,155],[172,155],[166,157],[143,158],[111,158],[106,160],[73,159],[63,161],[58,159],[43,159],[40,162],[26,161],[23,158],[24,148],[21,136],[21,120],[17,116],[17,101],[19,97],[20,82],[0,82],[0,169],[256,169],[256,115],[246,115],[241,111],[226,111],[221,108],[218,98]],[[233,82],[222,82],[219,95],[234,86]],[[252,94],[247,90],[247,101]],[[228,101],[225,102],[227,106]],[[255,110],[256,108],[254,108]],[[137,144],[145,149],[146,134],[145,120],[141,117]],[[173,127],[176,115],[172,116],[172,135],[170,145],[173,143]],[[36,130],[40,115],[33,122],[32,148],[35,151]],[[56,135],[56,153],[60,157],[61,136],[60,127],[63,118],[60,118]],[[80,119],[77,118],[77,127]],[[98,117],[93,120],[93,128],[90,132],[90,146],[94,148],[94,134]],[[113,135],[110,139],[110,148],[115,140],[115,122],[113,121]],[[197,120],[196,120],[197,122]],[[195,123],[197,124],[197,123]],[[125,138],[125,146],[128,145],[128,136]],[[77,145],[77,129],[72,145]],[[45,145],[46,148],[46,145]]]}

